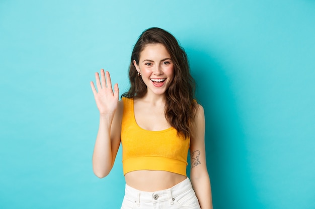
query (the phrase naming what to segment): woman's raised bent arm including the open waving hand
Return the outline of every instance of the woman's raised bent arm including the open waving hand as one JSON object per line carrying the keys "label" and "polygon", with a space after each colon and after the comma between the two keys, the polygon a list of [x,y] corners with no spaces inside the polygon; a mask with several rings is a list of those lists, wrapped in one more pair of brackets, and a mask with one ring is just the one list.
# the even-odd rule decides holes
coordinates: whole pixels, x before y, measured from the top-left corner
{"label": "woman's raised bent arm including the open waving hand", "polygon": [[123,103],[122,101],[118,102],[119,89],[117,84],[114,85],[113,92],[108,72],[106,72],[106,79],[103,69],[101,70],[101,80],[98,73],[95,77],[97,90],[93,82],[91,82],[91,88],[100,111],[100,124],[92,161],[95,175],[103,178],[112,169],[120,145]]}

